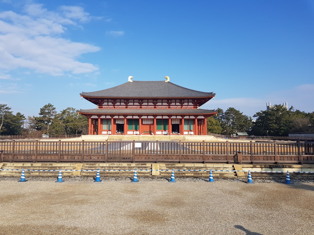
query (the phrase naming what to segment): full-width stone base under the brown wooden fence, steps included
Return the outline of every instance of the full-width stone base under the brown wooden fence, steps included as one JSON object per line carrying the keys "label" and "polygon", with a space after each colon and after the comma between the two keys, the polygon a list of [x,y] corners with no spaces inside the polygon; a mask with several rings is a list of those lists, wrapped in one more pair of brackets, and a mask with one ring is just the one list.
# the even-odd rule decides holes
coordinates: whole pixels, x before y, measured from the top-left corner
{"label": "full-width stone base under the brown wooden fence, steps included", "polygon": [[[57,176],[62,170],[64,176],[93,176],[100,169],[102,176],[133,176],[134,169],[138,175],[169,176],[172,169],[176,176],[208,177],[209,170],[214,176],[243,177],[250,170],[252,174],[269,175],[285,173],[263,173],[254,171],[289,171],[314,172],[314,165],[275,165],[275,164],[217,164],[217,163],[0,163],[1,176],[21,176],[24,169],[25,176]],[[105,171],[104,171],[105,170]],[[180,170],[180,171],[178,171]],[[183,171],[185,170],[185,171]],[[188,171],[190,170],[190,171]],[[207,170],[207,171],[204,171]],[[236,172],[234,171],[236,170]],[[241,172],[245,170],[245,172]],[[298,173],[295,173],[298,174]],[[301,173],[300,173],[301,174]],[[302,173],[303,174],[303,173]]]}

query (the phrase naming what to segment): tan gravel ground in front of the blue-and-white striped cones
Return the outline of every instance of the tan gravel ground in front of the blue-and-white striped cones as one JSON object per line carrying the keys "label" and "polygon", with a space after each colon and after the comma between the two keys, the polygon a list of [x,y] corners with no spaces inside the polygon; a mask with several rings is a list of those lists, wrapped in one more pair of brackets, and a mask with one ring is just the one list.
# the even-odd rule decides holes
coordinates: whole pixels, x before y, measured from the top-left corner
{"label": "tan gravel ground in front of the blue-and-white striped cones", "polygon": [[313,176],[0,178],[0,234],[314,234]]}

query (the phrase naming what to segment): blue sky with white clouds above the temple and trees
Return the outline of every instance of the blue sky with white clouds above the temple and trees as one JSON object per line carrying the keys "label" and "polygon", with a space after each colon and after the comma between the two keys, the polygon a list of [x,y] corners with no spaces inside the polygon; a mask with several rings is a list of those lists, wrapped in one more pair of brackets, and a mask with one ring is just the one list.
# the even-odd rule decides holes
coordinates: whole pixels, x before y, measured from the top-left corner
{"label": "blue sky with white clouds above the temple and trees", "polygon": [[0,0],[0,103],[38,116],[95,108],[80,92],[170,81],[202,108],[314,111],[314,0]]}

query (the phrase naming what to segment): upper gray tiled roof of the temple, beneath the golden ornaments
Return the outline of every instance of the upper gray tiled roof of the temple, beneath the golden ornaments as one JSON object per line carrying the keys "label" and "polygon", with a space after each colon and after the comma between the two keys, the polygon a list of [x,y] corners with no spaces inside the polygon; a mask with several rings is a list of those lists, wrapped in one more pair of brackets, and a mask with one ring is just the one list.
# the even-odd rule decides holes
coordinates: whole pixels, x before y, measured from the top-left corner
{"label": "upper gray tiled roof of the temple, beneath the golden ornaments", "polygon": [[82,92],[80,95],[106,98],[205,98],[213,97],[215,93],[195,91],[165,81],[133,81],[101,91]]}

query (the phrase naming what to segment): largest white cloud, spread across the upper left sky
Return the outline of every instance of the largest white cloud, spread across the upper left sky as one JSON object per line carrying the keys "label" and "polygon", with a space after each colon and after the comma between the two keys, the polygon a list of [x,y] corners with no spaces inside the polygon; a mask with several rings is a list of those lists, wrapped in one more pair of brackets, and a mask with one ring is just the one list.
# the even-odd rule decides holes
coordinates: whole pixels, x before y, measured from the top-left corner
{"label": "largest white cloud, spread across the upper left sky", "polygon": [[76,58],[99,51],[99,47],[61,37],[67,25],[78,25],[94,17],[81,7],[63,6],[60,10],[52,12],[42,4],[28,4],[24,6],[24,15],[0,12],[0,70],[26,68],[55,76],[98,70]]}

